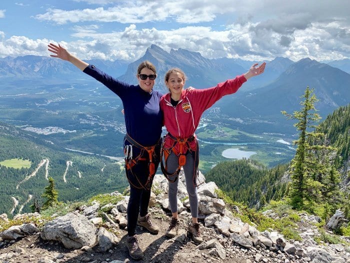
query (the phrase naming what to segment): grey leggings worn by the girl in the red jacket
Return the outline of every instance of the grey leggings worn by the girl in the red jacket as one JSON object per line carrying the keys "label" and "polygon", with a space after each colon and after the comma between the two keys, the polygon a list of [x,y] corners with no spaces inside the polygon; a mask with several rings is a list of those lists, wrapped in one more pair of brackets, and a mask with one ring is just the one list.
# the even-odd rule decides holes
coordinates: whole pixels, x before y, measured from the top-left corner
{"label": "grey leggings worn by the girl in the red jacket", "polygon": [[[166,160],[166,170],[168,173],[173,173],[175,172],[177,167],[178,167],[178,158],[171,151]],[[188,198],[189,198],[191,216],[198,217],[197,187],[193,185],[193,181],[195,182],[195,178],[193,180],[193,176],[196,176],[196,171],[194,171],[194,158],[193,158],[193,155],[190,153],[186,154],[186,164],[183,166],[183,171],[184,171],[184,177],[186,180],[186,189],[187,189]],[[169,179],[173,181],[175,179],[175,176],[177,176],[177,174],[174,175],[173,177],[169,177]],[[177,212],[178,180],[179,179],[177,178],[176,181],[174,181],[173,183],[168,182],[169,183],[169,188],[168,188],[169,205],[172,213]]]}

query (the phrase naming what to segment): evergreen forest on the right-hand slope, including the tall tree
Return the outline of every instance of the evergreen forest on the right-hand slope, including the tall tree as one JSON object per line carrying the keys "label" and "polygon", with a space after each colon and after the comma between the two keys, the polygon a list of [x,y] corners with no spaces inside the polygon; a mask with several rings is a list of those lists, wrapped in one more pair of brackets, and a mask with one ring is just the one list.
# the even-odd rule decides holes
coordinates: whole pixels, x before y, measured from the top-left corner
{"label": "evergreen forest on the right-hand slope, including the tall tree", "polygon": [[317,99],[308,89],[304,96],[300,111],[283,113],[298,121],[294,126],[300,132],[291,162],[266,168],[250,159],[223,161],[206,174],[206,180],[249,207],[284,199],[294,208],[314,212],[321,207],[327,216],[342,208],[349,216],[350,105],[339,107],[319,123]]}

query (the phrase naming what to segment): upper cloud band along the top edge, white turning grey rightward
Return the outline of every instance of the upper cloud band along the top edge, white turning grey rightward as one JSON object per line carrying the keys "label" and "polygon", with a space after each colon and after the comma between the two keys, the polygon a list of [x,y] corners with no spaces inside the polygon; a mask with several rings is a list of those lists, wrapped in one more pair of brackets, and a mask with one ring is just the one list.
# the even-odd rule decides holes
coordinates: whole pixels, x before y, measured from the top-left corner
{"label": "upper cloud band along the top edge, white turning grey rightward", "polygon": [[[173,19],[178,23],[200,23],[213,21],[217,16],[231,14],[232,21],[242,23],[247,19],[252,22],[265,20],[266,26],[283,30],[290,27],[299,28],[315,21],[346,18],[349,25],[350,1],[337,0],[336,4],[328,0],[281,2],[280,0],[75,0],[88,4],[108,5],[104,8],[83,10],[48,9],[46,13],[36,16],[38,20],[51,21],[57,24],[77,23],[84,21],[144,23]],[[286,13],[287,12],[287,13]],[[269,18],[269,19],[264,19]],[[276,22],[277,24],[274,24]],[[270,23],[270,25],[268,25]]]}

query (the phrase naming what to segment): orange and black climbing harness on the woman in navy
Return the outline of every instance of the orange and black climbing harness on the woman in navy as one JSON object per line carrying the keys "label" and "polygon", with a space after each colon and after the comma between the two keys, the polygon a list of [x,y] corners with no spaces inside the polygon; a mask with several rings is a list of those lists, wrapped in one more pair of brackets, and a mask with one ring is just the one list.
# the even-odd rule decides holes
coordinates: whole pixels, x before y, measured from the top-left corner
{"label": "orange and black climbing harness on the woman in navy", "polygon": [[[136,142],[134,139],[132,139],[128,134],[125,135],[125,139],[130,142],[130,145],[125,145],[124,147],[124,160],[125,160],[125,168],[126,168],[126,178],[129,181],[130,185],[132,185],[133,187],[137,188],[137,189],[145,189],[145,190],[149,190],[151,187],[151,182],[152,182],[152,178],[155,174],[155,164],[154,162],[156,162],[155,159],[156,158],[156,153],[155,153],[155,148],[159,145],[159,141],[153,145],[153,146],[143,146],[141,144],[139,144],[138,142]],[[132,147],[135,146],[139,149],[141,149],[140,153],[135,157],[132,158]],[[141,181],[139,180],[139,178],[133,174],[132,172],[132,167],[134,165],[136,165],[138,163],[138,161],[146,161],[147,158],[145,158],[144,152],[148,153],[148,177],[147,177],[147,181],[146,183],[143,185],[141,183]],[[128,177],[128,172],[130,172],[137,180],[139,186],[134,185],[131,180]]]}

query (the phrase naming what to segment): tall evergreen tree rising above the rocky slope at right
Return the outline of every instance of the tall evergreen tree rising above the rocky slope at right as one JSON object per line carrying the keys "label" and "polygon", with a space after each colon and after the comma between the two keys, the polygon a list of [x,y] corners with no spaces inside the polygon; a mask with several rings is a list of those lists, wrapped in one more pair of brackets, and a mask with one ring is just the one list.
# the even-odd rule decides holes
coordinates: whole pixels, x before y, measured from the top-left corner
{"label": "tall evergreen tree rising above the rocky slope at right", "polygon": [[331,160],[335,148],[329,146],[326,136],[316,125],[320,116],[314,107],[318,100],[313,89],[307,87],[301,98],[304,100],[300,102],[300,111],[295,111],[292,115],[282,111],[288,119],[298,121],[294,126],[299,131],[299,138],[294,141],[297,145],[295,157],[290,166],[291,205],[294,208],[304,208],[304,201],[308,202],[308,208],[314,203],[335,205],[340,201],[334,198],[339,196],[340,181],[340,175]]}

